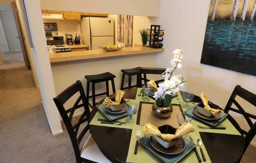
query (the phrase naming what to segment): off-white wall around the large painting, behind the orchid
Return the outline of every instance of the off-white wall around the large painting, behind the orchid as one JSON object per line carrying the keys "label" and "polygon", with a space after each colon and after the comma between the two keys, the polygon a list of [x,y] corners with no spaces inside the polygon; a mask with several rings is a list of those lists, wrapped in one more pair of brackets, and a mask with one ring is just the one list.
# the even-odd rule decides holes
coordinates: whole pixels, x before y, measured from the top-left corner
{"label": "off-white wall around the large painting, behind the orchid", "polygon": [[[155,23],[165,29],[163,42],[165,52],[157,55],[156,63],[161,67],[167,67],[168,61],[173,56],[172,51],[182,47],[183,67],[176,73],[181,73],[187,78],[184,89],[193,91],[197,95],[204,92],[210,101],[225,108],[236,85],[241,85],[256,94],[256,77],[200,63],[209,4],[210,0],[161,0],[160,15]],[[245,102],[242,106],[256,115],[254,106]],[[248,129],[241,116],[237,114],[232,116],[243,129]],[[256,143],[255,139],[254,142]]]}

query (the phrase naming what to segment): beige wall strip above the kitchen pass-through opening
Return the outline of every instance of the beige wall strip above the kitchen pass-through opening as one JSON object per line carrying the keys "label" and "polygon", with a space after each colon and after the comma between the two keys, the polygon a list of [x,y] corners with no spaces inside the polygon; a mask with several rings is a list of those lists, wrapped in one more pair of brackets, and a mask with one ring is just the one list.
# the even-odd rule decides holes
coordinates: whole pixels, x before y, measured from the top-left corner
{"label": "beige wall strip above the kitchen pass-through opening", "polygon": [[40,0],[44,10],[158,16],[160,0]]}

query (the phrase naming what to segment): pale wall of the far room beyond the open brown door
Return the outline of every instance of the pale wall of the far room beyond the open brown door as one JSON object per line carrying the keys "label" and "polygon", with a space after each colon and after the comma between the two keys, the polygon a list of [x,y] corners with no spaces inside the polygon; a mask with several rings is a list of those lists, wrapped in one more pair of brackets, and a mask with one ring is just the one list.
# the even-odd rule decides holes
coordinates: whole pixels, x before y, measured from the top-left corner
{"label": "pale wall of the far room beyond the open brown door", "polygon": [[[5,37],[10,51],[21,50],[19,39],[17,38],[18,32],[15,25],[13,11],[10,5],[0,5],[0,17],[4,27]],[[2,9],[2,10],[1,10]]]}

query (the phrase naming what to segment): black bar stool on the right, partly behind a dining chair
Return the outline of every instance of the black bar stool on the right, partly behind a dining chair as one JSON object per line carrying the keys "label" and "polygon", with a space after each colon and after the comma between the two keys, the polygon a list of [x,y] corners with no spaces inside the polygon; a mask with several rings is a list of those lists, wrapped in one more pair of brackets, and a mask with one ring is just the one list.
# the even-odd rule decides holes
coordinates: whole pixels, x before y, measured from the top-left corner
{"label": "black bar stool on the right, partly behind a dining chair", "polygon": [[[136,85],[132,85],[132,76],[137,75],[139,73],[139,67],[135,67],[133,69],[122,69],[121,72],[123,72],[122,75],[122,81],[121,81],[121,90],[124,89],[131,89],[133,87],[137,87]],[[128,87],[124,87],[124,76],[127,75],[128,76]],[[144,76],[144,83],[146,83],[146,74],[143,74]],[[137,82],[136,82],[137,83]]]}

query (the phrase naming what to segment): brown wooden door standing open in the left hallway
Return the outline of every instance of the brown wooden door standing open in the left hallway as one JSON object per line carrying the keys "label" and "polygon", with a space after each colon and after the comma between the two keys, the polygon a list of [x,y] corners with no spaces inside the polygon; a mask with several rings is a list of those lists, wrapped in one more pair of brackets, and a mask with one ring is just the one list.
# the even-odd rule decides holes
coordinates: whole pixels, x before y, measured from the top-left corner
{"label": "brown wooden door standing open in the left hallway", "polygon": [[30,70],[31,69],[30,68],[30,63],[29,63],[29,60],[28,60],[28,57],[27,57],[27,51],[26,51],[26,47],[25,47],[25,43],[24,43],[24,36],[22,34],[22,31],[21,31],[20,20],[19,20],[18,13],[17,13],[18,9],[16,7],[15,1],[11,2],[11,8],[13,10],[13,16],[14,16],[16,28],[17,28],[17,31],[18,31],[17,38],[20,41],[20,47],[21,47],[21,50],[22,50],[22,55],[23,55],[23,58],[24,58],[25,66],[27,67],[27,69]]}

